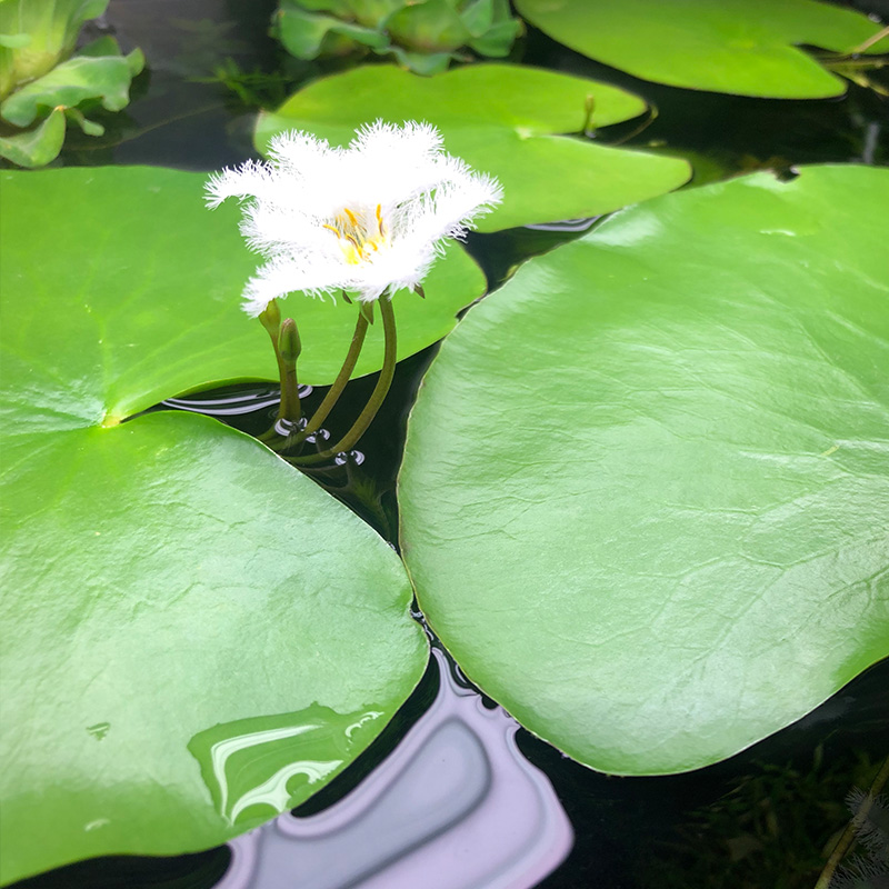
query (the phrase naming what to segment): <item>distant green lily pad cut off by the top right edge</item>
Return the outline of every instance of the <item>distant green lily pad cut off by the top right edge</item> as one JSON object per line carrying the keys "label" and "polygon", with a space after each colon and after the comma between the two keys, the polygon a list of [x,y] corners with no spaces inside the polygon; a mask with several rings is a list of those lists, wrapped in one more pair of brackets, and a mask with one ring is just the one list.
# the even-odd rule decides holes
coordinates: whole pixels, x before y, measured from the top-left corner
{"label": "distant green lily pad cut off by the top right edge", "polygon": [[[635,77],[693,90],[822,99],[846,81],[798,47],[848,52],[879,30],[813,0],[516,0],[531,24]],[[867,52],[889,52],[889,38]]]}

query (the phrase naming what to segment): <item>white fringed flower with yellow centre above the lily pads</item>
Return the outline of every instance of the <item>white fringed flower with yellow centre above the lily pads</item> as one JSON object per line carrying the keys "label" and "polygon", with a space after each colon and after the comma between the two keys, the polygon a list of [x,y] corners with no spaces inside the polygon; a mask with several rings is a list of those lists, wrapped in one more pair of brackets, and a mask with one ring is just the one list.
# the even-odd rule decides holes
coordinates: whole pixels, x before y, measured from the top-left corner
{"label": "white fringed flower with yellow centre above the lily pads", "polygon": [[428,123],[377,121],[331,148],[296,130],[277,136],[268,163],[247,161],[207,184],[207,202],[244,202],[241,232],[268,260],[244,288],[257,316],[293,290],[346,290],[370,302],[413,289],[443,249],[498,203],[502,190],[447,154]]}

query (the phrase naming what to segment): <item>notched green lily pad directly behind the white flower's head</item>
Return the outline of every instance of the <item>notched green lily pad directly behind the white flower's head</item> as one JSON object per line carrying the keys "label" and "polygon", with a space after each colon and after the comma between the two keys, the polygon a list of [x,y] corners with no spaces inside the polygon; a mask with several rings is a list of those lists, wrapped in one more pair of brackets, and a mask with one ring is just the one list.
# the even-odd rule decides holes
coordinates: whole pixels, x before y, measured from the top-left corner
{"label": "notched green lily pad directly behind the white flower's head", "polygon": [[583,78],[510,64],[472,64],[433,78],[368,66],[310,83],[273,113],[260,114],[256,144],[290,129],[348,144],[354,130],[382,118],[439,128],[447,150],[493,173],[503,202],[480,231],[611,212],[686,182],[678,158],[609,148],[583,138],[588,102],[603,127],[637,117],[637,96]]}

